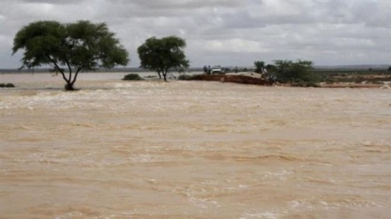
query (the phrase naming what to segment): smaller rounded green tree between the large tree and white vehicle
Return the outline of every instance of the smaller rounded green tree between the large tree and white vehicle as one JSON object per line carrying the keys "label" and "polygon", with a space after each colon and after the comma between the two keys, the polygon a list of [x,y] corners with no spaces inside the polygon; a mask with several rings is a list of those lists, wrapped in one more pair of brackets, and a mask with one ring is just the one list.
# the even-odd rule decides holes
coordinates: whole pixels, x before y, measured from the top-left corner
{"label": "smaller rounded green tree between the large tree and white vehicle", "polygon": [[151,37],[137,49],[141,60],[141,67],[156,71],[159,78],[164,76],[167,81],[167,73],[170,69],[188,67],[183,49],[186,47],[184,39],[177,36],[167,36],[161,39]]}

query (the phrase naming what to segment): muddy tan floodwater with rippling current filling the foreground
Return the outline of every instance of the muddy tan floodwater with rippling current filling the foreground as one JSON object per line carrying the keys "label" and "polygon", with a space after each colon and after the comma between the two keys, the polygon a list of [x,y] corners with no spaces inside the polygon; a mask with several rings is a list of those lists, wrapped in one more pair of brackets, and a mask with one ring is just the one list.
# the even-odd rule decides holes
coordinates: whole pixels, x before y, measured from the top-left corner
{"label": "muddy tan floodwater with rippling current filling the foreground", "polygon": [[1,218],[391,215],[390,90],[96,75],[0,75]]}

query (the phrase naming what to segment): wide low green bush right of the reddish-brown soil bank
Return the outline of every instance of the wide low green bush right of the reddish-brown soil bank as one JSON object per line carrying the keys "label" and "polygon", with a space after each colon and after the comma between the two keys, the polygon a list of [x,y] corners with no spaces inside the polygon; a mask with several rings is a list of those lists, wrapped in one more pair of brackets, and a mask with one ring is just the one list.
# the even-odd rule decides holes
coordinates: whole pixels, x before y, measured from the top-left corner
{"label": "wide low green bush right of the reddish-brown soil bank", "polygon": [[315,82],[312,61],[276,60],[275,74],[279,82]]}

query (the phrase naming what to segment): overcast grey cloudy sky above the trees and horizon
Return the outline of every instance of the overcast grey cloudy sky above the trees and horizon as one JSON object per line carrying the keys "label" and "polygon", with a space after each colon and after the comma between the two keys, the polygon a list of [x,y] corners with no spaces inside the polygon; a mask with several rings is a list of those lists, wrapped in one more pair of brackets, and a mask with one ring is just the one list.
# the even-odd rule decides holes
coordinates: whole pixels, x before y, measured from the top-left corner
{"label": "overcast grey cloudy sky above the trees and horizon", "polygon": [[0,68],[20,66],[13,37],[36,20],[106,22],[140,66],[148,37],[186,39],[190,66],[391,64],[391,0],[0,0]]}

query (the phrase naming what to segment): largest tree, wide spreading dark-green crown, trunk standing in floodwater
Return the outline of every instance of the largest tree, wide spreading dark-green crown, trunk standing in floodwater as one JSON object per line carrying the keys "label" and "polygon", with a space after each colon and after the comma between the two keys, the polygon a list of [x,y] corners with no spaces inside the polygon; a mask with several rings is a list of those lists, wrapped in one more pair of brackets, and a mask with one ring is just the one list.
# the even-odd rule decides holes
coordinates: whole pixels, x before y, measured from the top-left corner
{"label": "largest tree, wide spreading dark-green crown, trunk standing in floodwater", "polygon": [[15,35],[12,51],[24,50],[20,68],[49,65],[65,80],[66,90],[74,90],[81,71],[128,64],[128,52],[105,23],[87,20],[60,24],[36,21]]}

